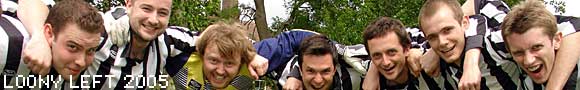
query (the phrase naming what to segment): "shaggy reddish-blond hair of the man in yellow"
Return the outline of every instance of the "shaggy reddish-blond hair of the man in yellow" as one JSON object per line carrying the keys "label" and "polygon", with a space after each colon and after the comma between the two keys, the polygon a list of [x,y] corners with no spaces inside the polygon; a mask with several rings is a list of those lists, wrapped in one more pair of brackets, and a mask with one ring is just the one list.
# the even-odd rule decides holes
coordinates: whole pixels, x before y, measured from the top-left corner
{"label": "shaggy reddish-blond hair of the man in yellow", "polygon": [[249,63],[254,55],[255,49],[249,38],[242,32],[238,23],[217,22],[208,26],[201,34],[197,42],[197,50],[200,55],[205,54],[207,45],[213,43],[221,56],[233,59],[234,54],[239,54],[242,63]]}

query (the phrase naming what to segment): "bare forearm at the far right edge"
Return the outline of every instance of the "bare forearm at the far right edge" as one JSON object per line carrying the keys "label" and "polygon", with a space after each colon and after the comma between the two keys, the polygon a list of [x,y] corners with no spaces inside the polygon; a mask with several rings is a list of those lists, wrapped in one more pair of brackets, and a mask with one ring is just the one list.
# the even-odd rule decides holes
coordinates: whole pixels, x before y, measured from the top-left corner
{"label": "bare forearm at the far right edge", "polygon": [[580,33],[570,34],[562,39],[546,89],[562,89],[568,81],[574,66],[580,59],[580,47],[576,46],[580,45],[578,40],[580,40]]}

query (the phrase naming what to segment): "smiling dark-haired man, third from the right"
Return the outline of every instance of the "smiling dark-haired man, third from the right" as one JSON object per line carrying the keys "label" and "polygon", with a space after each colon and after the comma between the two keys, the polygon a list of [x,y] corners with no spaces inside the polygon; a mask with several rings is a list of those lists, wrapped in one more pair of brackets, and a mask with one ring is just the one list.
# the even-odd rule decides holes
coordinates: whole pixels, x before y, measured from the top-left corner
{"label": "smiling dark-haired man, third from the right", "polygon": [[411,39],[404,27],[399,20],[381,17],[370,23],[363,32],[367,52],[380,74],[381,90],[419,89],[416,77],[407,67]]}

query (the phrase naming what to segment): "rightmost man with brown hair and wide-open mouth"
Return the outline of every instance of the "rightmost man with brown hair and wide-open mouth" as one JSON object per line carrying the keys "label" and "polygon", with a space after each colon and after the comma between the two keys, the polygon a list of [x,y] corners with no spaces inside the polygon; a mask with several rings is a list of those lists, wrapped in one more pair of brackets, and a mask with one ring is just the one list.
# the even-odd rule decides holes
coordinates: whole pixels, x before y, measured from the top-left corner
{"label": "rightmost man with brown hair and wide-open mouth", "polygon": [[[561,49],[563,36],[578,32],[578,29],[558,27],[563,25],[558,22],[569,21],[576,23],[572,25],[580,23],[580,19],[575,17],[552,15],[542,2],[535,0],[521,2],[505,17],[501,25],[502,36],[514,60],[527,73],[524,79],[526,89],[545,89],[550,75],[556,73],[553,72],[557,65],[556,55]],[[578,65],[567,69],[573,71],[563,89],[580,89]]]}

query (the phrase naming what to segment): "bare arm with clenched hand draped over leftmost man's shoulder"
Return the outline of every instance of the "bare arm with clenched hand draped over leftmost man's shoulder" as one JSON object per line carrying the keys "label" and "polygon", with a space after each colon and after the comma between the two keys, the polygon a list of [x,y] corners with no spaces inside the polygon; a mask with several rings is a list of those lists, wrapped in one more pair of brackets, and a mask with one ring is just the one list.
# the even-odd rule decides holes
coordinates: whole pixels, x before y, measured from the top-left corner
{"label": "bare arm with clenched hand draped over leftmost man's shoulder", "polygon": [[40,0],[18,0],[18,4],[18,18],[31,35],[22,51],[22,58],[33,73],[46,75],[52,61],[50,46],[43,30],[48,7]]}

